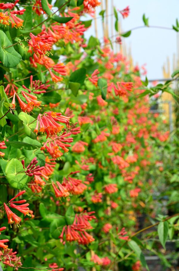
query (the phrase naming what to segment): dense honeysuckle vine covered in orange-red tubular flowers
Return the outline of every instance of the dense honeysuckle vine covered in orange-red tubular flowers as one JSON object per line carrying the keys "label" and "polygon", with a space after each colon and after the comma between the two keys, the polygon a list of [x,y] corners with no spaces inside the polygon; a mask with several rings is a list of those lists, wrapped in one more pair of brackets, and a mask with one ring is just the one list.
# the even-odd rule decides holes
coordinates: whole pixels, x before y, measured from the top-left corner
{"label": "dense honeysuckle vine covered in orange-red tubular flowers", "polygon": [[[87,40],[92,20],[82,16],[98,19],[100,5],[0,3],[3,270],[149,270],[142,250],[161,257],[158,243],[166,251],[167,238],[178,236],[178,199],[168,189],[177,187],[177,128],[170,134],[167,119],[150,107],[160,92],[178,102],[171,86],[179,71],[149,85],[147,77],[141,81],[145,66],[129,65],[112,49],[112,42],[122,46],[139,28],[178,31],[178,20],[173,28],[151,26],[144,14],[144,25],[120,33],[118,17],[126,19],[130,7],[118,7],[117,34],[111,36],[117,39],[105,34],[102,42]],[[103,26],[113,16],[104,10],[99,15]],[[157,208],[155,200],[156,192],[166,197],[163,190],[174,213],[167,217],[166,205],[159,198]]]}

